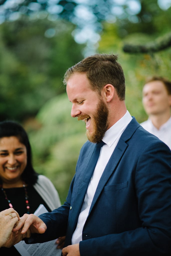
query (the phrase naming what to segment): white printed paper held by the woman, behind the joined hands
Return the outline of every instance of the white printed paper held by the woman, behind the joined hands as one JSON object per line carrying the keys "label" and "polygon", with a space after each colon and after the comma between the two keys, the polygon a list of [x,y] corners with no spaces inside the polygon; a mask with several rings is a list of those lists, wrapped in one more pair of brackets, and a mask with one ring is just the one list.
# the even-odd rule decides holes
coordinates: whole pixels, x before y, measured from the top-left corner
{"label": "white printed paper held by the woman, behind the joined hands", "polygon": [[[36,216],[48,212],[44,205],[40,204],[34,212]],[[61,256],[61,249],[57,249],[56,239],[45,243],[26,244],[20,241],[15,248],[22,256]]]}

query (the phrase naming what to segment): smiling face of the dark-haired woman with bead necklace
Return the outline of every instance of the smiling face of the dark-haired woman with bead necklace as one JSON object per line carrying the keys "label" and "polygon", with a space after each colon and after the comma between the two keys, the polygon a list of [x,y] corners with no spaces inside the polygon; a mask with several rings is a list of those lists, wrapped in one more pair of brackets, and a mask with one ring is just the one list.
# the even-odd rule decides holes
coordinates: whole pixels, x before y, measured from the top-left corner
{"label": "smiling face of the dark-haired woman with bead necklace", "polygon": [[20,179],[27,165],[26,146],[15,136],[0,139],[0,178],[5,183]]}

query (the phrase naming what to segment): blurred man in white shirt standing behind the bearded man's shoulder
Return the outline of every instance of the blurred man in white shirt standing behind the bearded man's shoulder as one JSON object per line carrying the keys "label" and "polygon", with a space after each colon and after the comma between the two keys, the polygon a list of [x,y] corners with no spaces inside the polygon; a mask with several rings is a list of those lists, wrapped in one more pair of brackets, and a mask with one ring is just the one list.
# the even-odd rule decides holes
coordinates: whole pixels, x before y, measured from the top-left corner
{"label": "blurred man in white shirt standing behind the bearded man's shoulder", "polygon": [[162,77],[148,79],[142,102],[149,117],[141,125],[171,149],[171,82]]}

